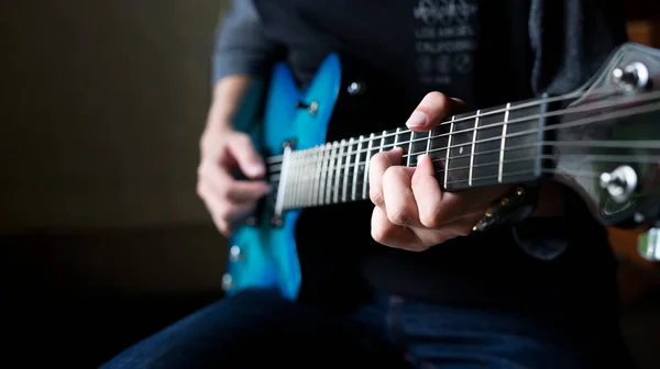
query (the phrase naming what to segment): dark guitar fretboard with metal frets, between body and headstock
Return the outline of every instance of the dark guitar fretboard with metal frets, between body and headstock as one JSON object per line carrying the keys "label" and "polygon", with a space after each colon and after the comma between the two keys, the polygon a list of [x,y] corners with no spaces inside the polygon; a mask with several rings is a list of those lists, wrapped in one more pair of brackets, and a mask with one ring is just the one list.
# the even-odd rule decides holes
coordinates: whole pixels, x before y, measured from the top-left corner
{"label": "dark guitar fretboard with metal frets, between body and headstock", "polygon": [[395,147],[403,148],[407,167],[428,154],[448,191],[537,179],[543,107],[506,104],[454,115],[429,132],[402,127],[290,152],[273,177],[279,209],[367,200],[370,158]]}

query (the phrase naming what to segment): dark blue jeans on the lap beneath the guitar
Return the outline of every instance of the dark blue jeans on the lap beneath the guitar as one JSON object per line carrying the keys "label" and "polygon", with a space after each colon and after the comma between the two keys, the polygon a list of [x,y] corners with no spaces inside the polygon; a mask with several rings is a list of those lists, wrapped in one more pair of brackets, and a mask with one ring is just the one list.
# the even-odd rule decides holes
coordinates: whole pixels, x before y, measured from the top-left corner
{"label": "dark blue jeans on the lap beneath the guitar", "polygon": [[616,339],[559,326],[392,295],[337,316],[251,290],[191,314],[101,368],[572,369],[601,368],[598,360],[623,368],[613,361],[620,347],[604,344]]}

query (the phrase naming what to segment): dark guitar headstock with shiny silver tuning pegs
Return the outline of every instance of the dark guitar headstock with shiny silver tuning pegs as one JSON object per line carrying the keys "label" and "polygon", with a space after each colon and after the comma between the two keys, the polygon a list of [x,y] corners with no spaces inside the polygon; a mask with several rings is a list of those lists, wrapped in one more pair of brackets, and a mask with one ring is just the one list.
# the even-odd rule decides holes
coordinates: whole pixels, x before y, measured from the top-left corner
{"label": "dark guitar headstock with shiny silver tuning pegs", "polygon": [[660,214],[660,51],[625,44],[568,96],[548,143],[554,179],[606,225]]}

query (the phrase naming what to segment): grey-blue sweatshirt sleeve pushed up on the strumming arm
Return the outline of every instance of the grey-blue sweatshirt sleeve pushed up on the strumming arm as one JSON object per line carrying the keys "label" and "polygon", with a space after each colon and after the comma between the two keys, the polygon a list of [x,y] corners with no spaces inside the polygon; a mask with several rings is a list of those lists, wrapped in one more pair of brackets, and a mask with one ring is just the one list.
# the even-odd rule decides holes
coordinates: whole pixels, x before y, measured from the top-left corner
{"label": "grey-blue sweatshirt sleeve pushed up on the strumming arm", "polygon": [[275,45],[266,36],[252,0],[231,0],[230,11],[216,32],[213,85],[229,75],[263,75],[274,54]]}

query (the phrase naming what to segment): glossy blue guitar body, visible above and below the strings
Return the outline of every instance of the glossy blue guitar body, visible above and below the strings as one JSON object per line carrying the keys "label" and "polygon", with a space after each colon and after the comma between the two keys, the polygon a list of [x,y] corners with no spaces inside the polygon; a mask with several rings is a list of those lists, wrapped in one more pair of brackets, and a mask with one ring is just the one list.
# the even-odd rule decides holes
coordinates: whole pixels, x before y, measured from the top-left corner
{"label": "glossy blue guitar body, visible above and below the strings", "polygon": [[[305,149],[326,143],[332,112],[342,81],[341,64],[330,55],[305,91],[299,91],[285,64],[275,66],[265,101],[263,124],[243,122],[239,130],[252,135],[257,149],[278,155],[285,143]],[[300,104],[312,104],[300,107]],[[312,111],[314,110],[314,111]],[[301,271],[296,250],[295,228],[300,210],[287,211],[277,224],[266,206],[251,225],[238,228],[230,239],[228,273],[223,278],[229,294],[246,288],[277,289],[287,299],[296,299]]]}

